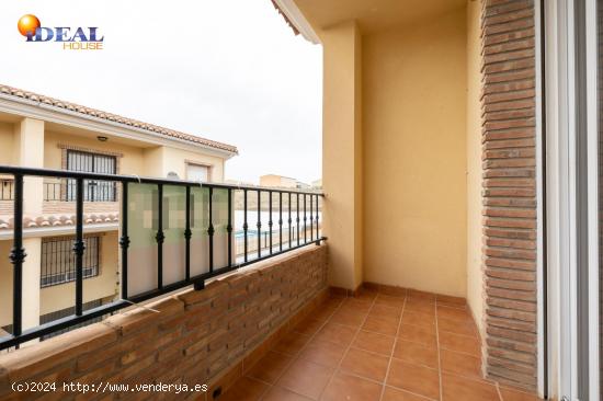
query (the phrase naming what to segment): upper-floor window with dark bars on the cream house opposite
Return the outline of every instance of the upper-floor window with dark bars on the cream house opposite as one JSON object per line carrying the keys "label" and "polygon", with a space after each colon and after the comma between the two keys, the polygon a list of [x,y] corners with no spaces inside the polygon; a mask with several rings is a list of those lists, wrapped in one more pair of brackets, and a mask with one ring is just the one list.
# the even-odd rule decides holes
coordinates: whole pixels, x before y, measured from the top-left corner
{"label": "upper-floor window with dark bars on the cream house opposite", "polygon": [[[67,170],[87,173],[115,174],[117,159],[114,156],[89,153],[79,150],[67,151]],[[67,200],[76,200],[76,180],[67,181]],[[115,202],[115,182],[84,180],[83,199],[86,202]]]}

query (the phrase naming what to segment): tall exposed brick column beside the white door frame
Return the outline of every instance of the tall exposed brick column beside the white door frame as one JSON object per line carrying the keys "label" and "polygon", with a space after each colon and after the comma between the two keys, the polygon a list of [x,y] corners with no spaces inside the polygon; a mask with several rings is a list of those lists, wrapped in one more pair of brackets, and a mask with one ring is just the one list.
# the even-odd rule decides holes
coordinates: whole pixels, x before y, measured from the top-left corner
{"label": "tall exposed brick column beside the white door frame", "polygon": [[537,373],[534,1],[485,0],[483,284],[487,377]]}

